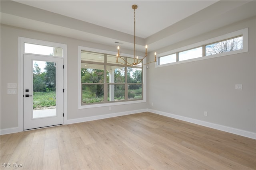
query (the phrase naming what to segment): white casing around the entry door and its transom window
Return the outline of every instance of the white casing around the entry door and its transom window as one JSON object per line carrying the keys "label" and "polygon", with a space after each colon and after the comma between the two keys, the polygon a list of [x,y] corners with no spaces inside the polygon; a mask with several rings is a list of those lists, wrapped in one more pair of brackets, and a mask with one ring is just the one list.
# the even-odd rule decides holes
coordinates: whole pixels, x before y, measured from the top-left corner
{"label": "white casing around the entry door and its transom window", "polygon": [[24,88],[24,43],[32,43],[32,44],[38,44],[38,45],[46,45],[46,46],[52,46],[52,47],[60,47],[63,49],[63,124],[67,124],[67,45],[66,44],[60,44],[60,43],[54,43],[50,41],[42,41],[37,39],[30,39],[25,37],[18,37],[18,131],[24,131],[24,103],[23,103],[23,88]]}

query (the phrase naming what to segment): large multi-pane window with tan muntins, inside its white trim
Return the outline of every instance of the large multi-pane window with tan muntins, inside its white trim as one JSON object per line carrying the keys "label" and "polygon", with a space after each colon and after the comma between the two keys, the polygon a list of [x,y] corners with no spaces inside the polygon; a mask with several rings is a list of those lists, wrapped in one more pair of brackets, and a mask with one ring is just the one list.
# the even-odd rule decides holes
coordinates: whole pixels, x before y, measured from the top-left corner
{"label": "large multi-pane window with tan muntins, inside its white trim", "polygon": [[[116,63],[116,56],[106,53],[80,50],[80,54],[81,105],[143,99],[141,65]],[[133,58],[122,59],[130,61]],[[120,63],[124,63],[122,59]]]}

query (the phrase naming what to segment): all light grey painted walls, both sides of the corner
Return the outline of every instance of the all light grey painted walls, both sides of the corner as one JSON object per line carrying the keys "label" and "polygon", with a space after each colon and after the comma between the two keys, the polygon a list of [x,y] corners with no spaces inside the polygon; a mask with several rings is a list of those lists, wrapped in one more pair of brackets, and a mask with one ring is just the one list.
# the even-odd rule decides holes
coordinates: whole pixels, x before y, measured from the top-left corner
{"label": "all light grey painted walls, both sides of the corner", "polygon": [[[147,70],[147,102],[90,109],[78,109],[78,46],[115,51],[116,47],[94,44],[8,25],[1,25],[1,130],[18,127],[18,92],[7,94],[7,83],[18,84],[18,37],[67,44],[67,119],[152,109],[256,133],[255,18],[158,50],[184,47],[248,27],[247,53],[218,57]],[[131,52],[132,53],[132,52]],[[243,84],[243,90],[235,90]],[[154,106],[151,106],[151,103]],[[208,116],[204,116],[208,111]]]}

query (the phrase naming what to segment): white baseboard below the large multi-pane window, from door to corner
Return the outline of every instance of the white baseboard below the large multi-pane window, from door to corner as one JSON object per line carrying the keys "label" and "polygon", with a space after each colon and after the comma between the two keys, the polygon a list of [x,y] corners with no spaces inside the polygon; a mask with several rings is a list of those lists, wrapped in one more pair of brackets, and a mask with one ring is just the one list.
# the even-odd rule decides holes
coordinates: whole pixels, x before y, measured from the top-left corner
{"label": "white baseboard below the large multi-pane window, from door to corner", "polygon": [[124,111],[124,112],[119,112],[119,113],[110,113],[110,114],[106,114],[106,115],[82,117],[82,118],[78,118],[78,119],[69,119],[69,120],[67,120],[67,124],[80,123],[80,122],[85,122],[85,121],[93,121],[93,120],[99,120],[99,119],[106,119],[106,118],[110,118],[110,117],[130,115],[130,114],[141,113],[141,112],[145,112],[145,111],[148,111],[148,109]]}

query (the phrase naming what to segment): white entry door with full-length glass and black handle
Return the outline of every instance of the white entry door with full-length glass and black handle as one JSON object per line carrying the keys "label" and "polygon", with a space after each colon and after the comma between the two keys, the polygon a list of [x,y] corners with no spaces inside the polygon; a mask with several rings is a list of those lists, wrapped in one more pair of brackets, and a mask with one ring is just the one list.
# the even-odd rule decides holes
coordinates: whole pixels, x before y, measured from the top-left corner
{"label": "white entry door with full-length glass and black handle", "polygon": [[63,124],[63,59],[24,55],[24,130]]}

